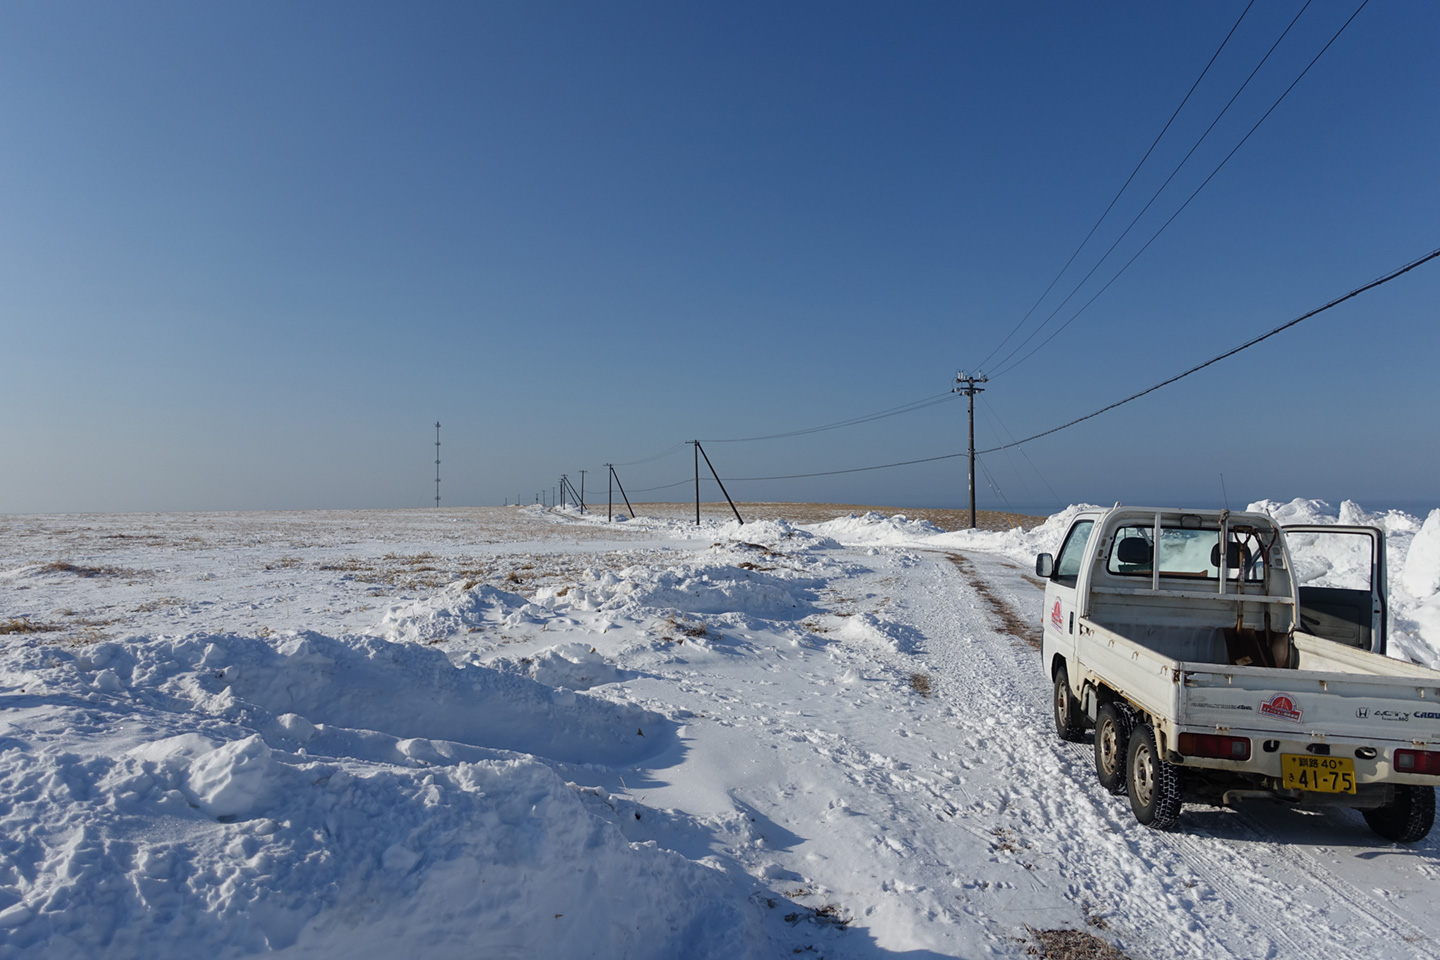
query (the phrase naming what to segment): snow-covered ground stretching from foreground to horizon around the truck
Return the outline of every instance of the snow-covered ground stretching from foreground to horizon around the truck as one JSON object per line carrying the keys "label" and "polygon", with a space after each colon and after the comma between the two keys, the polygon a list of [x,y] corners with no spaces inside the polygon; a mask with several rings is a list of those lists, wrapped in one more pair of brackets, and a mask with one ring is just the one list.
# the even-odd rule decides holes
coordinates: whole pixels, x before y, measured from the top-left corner
{"label": "snow-covered ground stretching from foreground to horizon around the truck", "polygon": [[[1440,664],[1440,511],[1256,508],[1382,525]],[[0,957],[1440,953],[1436,839],[1148,830],[1054,737],[1071,512],[0,518]]]}

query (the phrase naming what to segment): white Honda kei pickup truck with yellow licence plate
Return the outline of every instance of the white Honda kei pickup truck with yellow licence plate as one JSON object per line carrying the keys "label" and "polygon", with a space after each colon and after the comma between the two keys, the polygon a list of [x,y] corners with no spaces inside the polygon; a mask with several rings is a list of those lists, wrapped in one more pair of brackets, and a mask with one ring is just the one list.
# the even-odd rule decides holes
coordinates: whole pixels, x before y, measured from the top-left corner
{"label": "white Honda kei pickup truck with yellow licence plate", "polygon": [[[1331,537],[1319,561],[1290,554]],[[1355,581],[1299,583],[1297,561],[1338,554]],[[1270,799],[1355,807],[1391,842],[1430,832],[1440,672],[1385,656],[1382,531],[1116,504],[1079,512],[1035,574],[1056,733],[1094,728],[1100,784],[1140,823]]]}

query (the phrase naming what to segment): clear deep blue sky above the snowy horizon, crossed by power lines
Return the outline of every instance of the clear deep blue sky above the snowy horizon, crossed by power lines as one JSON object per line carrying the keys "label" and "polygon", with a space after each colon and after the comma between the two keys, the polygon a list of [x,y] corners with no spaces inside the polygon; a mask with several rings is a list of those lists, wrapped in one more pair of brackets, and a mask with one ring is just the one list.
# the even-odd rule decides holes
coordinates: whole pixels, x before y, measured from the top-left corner
{"label": "clear deep blue sky above the snowy horizon, crossed by power lines", "polygon": [[[1094,265],[1302,9],[1261,1],[1041,304]],[[1315,0],[1151,237],[1355,12]],[[965,446],[949,390],[1076,250],[1241,1],[0,7],[0,512],[446,505],[626,463],[721,476]],[[1070,327],[979,446],[1440,246],[1440,4],[1369,3]],[[1440,502],[1440,261],[1020,453],[981,507]],[[998,361],[1009,345],[992,357]],[[1028,347],[1027,347],[1028,351]],[[1024,353],[1024,351],[1022,351]],[[1022,356],[1022,354],[1021,354]],[[1017,356],[1017,360],[1020,356]],[[998,373],[996,373],[998,371]],[[744,499],[959,505],[963,459]],[[714,488],[706,497],[714,497]]]}

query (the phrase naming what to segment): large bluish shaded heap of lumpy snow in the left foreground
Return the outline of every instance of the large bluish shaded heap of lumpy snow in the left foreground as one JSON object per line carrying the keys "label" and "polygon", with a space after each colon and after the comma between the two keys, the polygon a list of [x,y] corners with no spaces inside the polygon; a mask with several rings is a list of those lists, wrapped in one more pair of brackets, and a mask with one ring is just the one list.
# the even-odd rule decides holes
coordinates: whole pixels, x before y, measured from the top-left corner
{"label": "large bluish shaded heap of lumpy snow in the left foreground", "polygon": [[[595,669],[576,653],[557,648],[544,672]],[[729,957],[757,943],[724,874],[625,841],[543,760],[629,764],[672,746],[644,708],[314,633],[30,645],[0,684],[0,956]]]}

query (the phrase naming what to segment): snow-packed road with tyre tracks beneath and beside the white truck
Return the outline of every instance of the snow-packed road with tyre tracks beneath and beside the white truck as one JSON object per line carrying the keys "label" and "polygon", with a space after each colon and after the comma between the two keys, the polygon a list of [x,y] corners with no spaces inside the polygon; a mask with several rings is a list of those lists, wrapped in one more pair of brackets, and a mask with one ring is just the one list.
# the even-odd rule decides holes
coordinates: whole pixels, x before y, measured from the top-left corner
{"label": "snow-packed road with tyre tracks beneath and beside the white truck", "polygon": [[[1038,620],[1038,592],[1008,561],[969,561],[991,592]],[[943,564],[936,570],[950,574]],[[937,587],[914,622],[945,636],[946,623],[975,622],[981,603],[972,597],[963,584]],[[1135,957],[1436,954],[1433,841],[1377,843],[1358,813],[1267,803],[1192,806],[1175,832],[1139,828],[1128,802],[1096,783],[1090,744],[1053,734],[1037,651],[998,643],[981,623],[962,626],[929,659],[949,695],[971,705],[956,720],[956,753],[984,757],[988,776],[969,794],[992,830],[1032,851],[1032,881],[1044,891],[1032,895],[1037,911],[1054,911],[1064,924],[1076,914],[1097,923]],[[984,728],[989,717],[1008,756]],[[1027,923],[1050,925],[1044,913]]]}

